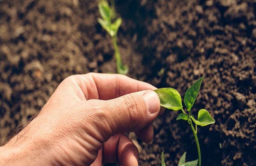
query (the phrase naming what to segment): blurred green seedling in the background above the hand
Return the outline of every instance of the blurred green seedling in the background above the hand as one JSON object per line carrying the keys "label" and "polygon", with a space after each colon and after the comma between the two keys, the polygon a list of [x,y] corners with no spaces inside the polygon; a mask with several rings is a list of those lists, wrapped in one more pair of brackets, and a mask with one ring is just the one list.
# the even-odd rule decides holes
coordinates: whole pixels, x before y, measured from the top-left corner
{"label": "blurred green seedling in the background above the hand", "polygon": [[115,11],[115,2],[111,0],[111,7],[109,6],[106,0],[101,0],[98,4],[100,16],[98,18],[98,22],[100,25],[108,32],[111,36],[114,50],[115,50],[115,57],[116,57],[116,71],[119,74],[126,75],[128,72],[128,67],[122,64],[121,55],[117,46],[117,31],[122,24],[121,18],[116,18],[116,11]]}

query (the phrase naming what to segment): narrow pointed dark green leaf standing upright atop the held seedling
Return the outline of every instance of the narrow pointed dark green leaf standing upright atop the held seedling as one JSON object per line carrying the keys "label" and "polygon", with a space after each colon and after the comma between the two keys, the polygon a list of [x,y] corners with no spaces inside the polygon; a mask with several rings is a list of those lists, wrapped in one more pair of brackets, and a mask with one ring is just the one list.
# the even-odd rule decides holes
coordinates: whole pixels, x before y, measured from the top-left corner
{"label": "narrow pointed dark green leaf standing upright atop the held seedling", "polygon": [[197,80],[195,83],[192,84],[192,86],[190,88],[188,88],[188,90],[185,93],[185,97],[184,97],[184,103],[186,105],[186,107],[188,108],[188,111],[191,110],[191,108],[193,107],[195,101],[196,101],[196,97],[198,95],[201,83],[204,79],[204,76],[202,76],[199,80]]}

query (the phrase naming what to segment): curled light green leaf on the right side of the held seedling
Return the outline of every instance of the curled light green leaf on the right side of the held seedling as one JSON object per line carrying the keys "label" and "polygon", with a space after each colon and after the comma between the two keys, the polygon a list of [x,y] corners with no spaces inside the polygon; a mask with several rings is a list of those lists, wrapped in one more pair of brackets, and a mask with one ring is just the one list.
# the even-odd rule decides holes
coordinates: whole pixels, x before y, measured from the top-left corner
{"label": "curled light green leaf on the right side of the held seedling", "polygon": [[212,118],[210,113],[205,109],[199,110],[197,120],[194,118],[193,115],[191,115],[190,117],[199,126],[207,126],[215,123],[215,120]]}

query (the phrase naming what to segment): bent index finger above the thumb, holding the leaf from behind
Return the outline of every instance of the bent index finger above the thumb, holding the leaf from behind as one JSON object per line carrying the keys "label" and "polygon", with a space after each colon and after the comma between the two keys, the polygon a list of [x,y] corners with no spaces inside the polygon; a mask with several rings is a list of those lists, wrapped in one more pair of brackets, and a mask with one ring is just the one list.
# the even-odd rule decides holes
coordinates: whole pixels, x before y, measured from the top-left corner
{"label": "bent index finger above the thumb, holding the leaf from behind", "polygon": [[79,76],[78,84],[87,100],[109,100],[132,92],[156,89],[149,83],[120,74],[88,73]]}

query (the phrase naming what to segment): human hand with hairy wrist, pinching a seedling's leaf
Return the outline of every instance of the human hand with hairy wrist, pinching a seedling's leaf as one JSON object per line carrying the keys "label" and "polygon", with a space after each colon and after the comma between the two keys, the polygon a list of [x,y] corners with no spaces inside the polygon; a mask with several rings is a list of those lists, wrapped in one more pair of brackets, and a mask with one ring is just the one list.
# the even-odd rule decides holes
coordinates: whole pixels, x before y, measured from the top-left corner
{"label": "human hand with hairy wrist, pinching a seedling's leaf", "polygon": [[138,165],[138,150],[123,133],[153,139],[151,122],[160,111],[154,89],[117,74],[69,76],[38,116],[0,148],[0,164]]}

